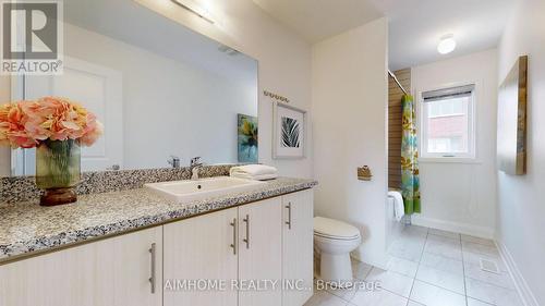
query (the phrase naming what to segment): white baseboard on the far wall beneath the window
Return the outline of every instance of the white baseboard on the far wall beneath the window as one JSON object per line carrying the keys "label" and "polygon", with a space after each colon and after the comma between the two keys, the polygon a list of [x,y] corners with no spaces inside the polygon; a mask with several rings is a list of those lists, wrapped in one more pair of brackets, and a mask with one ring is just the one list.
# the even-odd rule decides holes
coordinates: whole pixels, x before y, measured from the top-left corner
{"label": "white baseboard on the far wall beneath the window", "polygon": [[412,216],[412,224],[460,233],[475,237],[488,238],[488,240],[494,240],[494,232],[495,232],[494,229],[486,227],[432,219],[422,217],[417,213]]}

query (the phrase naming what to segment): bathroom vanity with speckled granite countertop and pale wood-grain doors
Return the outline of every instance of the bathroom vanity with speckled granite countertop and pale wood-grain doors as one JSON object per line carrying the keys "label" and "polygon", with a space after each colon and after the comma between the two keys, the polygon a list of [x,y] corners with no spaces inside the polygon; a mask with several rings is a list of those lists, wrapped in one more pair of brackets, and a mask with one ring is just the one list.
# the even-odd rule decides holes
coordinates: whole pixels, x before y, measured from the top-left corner
{"label": "bathroom vanity with speckled granite countertop and pale wood-grain doors", "polygon": [[301,306],[313,293],[314,185],[281,178],[186,204],[138,188],[0,206],[0,305]]}

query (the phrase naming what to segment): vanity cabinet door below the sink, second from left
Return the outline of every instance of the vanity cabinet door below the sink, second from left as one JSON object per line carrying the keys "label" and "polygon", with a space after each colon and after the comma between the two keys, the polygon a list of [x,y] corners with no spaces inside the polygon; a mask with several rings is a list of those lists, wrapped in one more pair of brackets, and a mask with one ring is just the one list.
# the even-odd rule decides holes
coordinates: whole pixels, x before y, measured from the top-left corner
{"label": "vanity cabinet door below the sink, second from left", "polygon": [[[231,280],[238,277],[237,211],[226,209],[164,225],[165,306],[237,306],[238,292],[231,290]],[[196,289],[198,281],[210,283]]]}

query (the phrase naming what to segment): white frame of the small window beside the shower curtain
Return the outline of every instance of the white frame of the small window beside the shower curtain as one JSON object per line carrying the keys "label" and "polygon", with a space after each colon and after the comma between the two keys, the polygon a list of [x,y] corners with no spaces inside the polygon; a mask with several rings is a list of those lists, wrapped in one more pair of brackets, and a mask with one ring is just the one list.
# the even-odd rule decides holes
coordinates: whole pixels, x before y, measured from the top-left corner
{"label": "white frame of the small window beside the shower curtain", "polygon": [[[423,94],[433,90],[441,90],[460,86],[474,85],[473,93],[471,95],[471,102],[468,107],[469,126],[468,126],[468,152],[448,152],[448,154],[433,154],[427,152],[427,120],[424,113],[424,98]],[[480,82],[463,82],[455,84],[446,84],[437,86],[435,88],[426,88],[417,91],[417,127],[419,127],[419,160],[423,162],[476,162],[476,105],[479,101],[481,84]]]}

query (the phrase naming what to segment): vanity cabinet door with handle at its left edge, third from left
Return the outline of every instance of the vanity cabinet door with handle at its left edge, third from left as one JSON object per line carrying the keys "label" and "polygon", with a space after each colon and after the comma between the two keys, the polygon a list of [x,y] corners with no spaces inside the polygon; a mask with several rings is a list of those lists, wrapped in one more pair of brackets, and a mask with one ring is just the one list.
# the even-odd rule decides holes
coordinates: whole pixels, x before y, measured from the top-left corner
{"label": "vanity cabinet door with handle at its left edge, third from left", "polygon": [[281,219],[281,197],[239,207],[239,306],[282,304]]}

